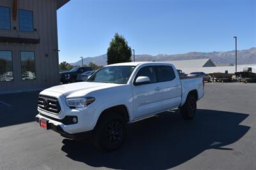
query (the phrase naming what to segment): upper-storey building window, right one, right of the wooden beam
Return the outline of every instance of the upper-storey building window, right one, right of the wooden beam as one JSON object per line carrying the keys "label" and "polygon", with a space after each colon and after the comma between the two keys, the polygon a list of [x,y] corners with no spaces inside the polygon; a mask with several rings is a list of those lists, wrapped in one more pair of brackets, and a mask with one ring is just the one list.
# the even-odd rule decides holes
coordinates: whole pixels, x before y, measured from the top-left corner
{"label": "upper-storey building window, right one, right of the wooden beam", "polygon": [[33,31],[33,12],[19,10],[19,29],[20,31]]}

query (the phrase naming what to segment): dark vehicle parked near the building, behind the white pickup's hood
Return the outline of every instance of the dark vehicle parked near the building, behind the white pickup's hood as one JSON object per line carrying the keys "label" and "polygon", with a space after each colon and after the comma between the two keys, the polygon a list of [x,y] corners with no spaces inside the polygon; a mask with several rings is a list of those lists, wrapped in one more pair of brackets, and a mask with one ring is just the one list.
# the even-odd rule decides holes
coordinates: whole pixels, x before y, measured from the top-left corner
{"label": "dark vehicle parked near the building, behind the white pickup's hood", "polygon": [[67,72],[60,72],[60,82],[63,84],[76,82],[78,74],[92,71],[92,70],[93,69],[90,66],[82,66],[82,67],[77,66]]}

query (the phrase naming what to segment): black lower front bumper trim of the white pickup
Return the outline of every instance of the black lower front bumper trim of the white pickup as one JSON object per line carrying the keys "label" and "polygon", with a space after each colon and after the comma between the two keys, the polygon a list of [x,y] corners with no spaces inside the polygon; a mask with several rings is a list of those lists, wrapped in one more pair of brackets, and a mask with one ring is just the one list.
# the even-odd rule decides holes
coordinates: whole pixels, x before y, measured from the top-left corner
{"label": "black lower front bumper trim of the white pickup", "polygon": [[93,130],[90,130],[87,132],[80,132],[80,133],[76,133],[76,134],[68,134],[61,127],[61,122],[59,122],[60,125],[58,125],[56,123],[52,123],[52,120],[49,120],[46,117],[41,116],[40,114],[36,115],[36,122],[39,123],[40,119],[42,119],[42,118],[44,118],[44,120],[48,120],[47,121],[47,129],[48,130],[50,130],[50,129],[54,130],[55,132],[58,132],[59,134],[61,134],[63,137],[66,137],[68,139],[90,139],[90,138],[92,138]]}

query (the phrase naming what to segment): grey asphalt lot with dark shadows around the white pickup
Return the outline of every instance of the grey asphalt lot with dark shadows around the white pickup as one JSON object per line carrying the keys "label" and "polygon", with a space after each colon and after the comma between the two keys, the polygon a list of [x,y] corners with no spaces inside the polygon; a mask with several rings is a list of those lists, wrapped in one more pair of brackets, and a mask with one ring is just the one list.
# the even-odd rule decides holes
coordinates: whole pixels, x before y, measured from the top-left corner
{"label": "grey asphalt lot with dark shadows around the white pickup", "polygon": [[113,153],[40,128],[37,96],[0,95],[0,169],[256,169],[256,84],[205,83],[193,120],[133,123]]}

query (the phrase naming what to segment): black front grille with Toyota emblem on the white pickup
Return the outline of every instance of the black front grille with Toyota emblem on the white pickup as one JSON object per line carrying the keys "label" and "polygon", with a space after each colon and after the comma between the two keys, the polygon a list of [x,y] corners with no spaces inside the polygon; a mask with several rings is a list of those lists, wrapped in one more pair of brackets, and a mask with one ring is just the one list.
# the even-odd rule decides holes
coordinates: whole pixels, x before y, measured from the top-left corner
{"label": "black front grille with Toyota emblem on the white pickup", "polygon": [[39,95],[38,107],[44,111],[52,112],[54,114],[58,114],[61,111],[60,104],[57,98],[47,97],[44,95]]}

